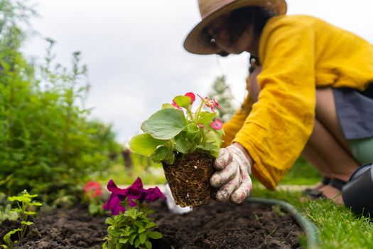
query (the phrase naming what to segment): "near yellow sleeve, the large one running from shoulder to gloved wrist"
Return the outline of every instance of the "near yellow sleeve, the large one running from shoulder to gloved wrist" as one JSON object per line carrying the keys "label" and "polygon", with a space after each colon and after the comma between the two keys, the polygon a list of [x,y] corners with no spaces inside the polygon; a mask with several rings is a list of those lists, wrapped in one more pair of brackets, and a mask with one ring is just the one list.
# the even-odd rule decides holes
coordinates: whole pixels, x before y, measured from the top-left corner
{"label": "near yellow sleeve, the large one running from shoulder to gloved wrist", "polygon": [[307,23],[272,18],[259,43],[258,102],[233,142],[254,159],[253,174],[274,189],[301,154],[315,118],[314,32]]}

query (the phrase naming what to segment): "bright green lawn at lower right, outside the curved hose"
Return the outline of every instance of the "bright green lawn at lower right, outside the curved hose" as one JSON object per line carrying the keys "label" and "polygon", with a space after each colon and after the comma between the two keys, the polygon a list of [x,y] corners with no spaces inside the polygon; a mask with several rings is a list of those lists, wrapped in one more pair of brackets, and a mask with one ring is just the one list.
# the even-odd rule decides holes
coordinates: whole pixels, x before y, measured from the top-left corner
{"label": "bright green lawn at lower right, outside the curved hose", "polygon": [[300,201],[305,197],[301,192],[268,191],[259,186],[254,186],[253,196],[280,199],[298,208],[318,227],[320,248],[373,248],[373,222],[355,216],[345,206],[328,200]]}

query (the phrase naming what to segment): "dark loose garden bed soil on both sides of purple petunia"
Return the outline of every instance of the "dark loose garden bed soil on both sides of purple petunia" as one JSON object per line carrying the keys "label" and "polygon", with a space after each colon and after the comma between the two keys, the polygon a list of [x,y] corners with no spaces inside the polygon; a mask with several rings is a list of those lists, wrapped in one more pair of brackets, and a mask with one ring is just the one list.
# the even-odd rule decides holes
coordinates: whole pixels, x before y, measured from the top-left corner
{"label": "dark loose garden bed soil on both sides of purple petunia", "polygon": [[[209,201],[190,213],[172,214],[165,202],[157,201],[153,209],[158,231],[163,233],[163,238],[153,241],[153,248],[300,248],[301,228],[290,215],[268,205]],[[102,248],[107,234],[104,220],[82,208],[43,213],[16,248]]]}

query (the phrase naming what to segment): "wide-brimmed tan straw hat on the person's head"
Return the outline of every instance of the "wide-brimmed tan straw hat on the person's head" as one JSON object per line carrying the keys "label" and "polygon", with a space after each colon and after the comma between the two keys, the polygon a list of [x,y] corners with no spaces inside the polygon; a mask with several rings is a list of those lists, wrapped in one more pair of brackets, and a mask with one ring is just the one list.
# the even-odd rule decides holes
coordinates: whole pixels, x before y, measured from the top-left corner
{"label": "wide-brimmed tan straw hat on the person's head", "polygon": [[203,29],[215,18],[230,11],[246,6],[259,6],[269,9],[275,15],[286,14],[285,0],[198,0],[202,21],[188,34],[184,41],[184,48],[190,53],[210,55],[217,53],[215,46],[210,46],[210,41],[205,41]]}

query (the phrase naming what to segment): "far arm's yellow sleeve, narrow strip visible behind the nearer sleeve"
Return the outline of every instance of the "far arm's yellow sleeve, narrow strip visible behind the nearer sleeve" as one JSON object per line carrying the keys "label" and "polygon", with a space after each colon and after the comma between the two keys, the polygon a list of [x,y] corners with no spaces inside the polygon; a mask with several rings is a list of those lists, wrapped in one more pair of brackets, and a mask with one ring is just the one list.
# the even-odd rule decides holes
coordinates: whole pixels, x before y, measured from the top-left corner
{"label": "far arm's yellow sleeve, narrow strip visible behind the nearer sleeve", "polygon": [[244,124],[244,121],[247,118],[247,115],[249,115],[250,111],[252,110],[252,104],[253,104],[252,97],[248,94],[247,97],[245,97],[244,102],[242,103],[241,107],[234,113],[232,118],[225,122],[223,125],[223,130],[225,132],[224,136],[222,137],[222,147],[227,147],[229,144],[232,143],[232,140],[234,139],[234,136],[239,131],[239,129],[242,128],[242,124]]}

